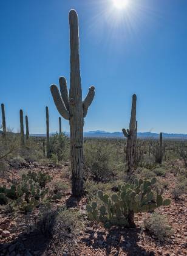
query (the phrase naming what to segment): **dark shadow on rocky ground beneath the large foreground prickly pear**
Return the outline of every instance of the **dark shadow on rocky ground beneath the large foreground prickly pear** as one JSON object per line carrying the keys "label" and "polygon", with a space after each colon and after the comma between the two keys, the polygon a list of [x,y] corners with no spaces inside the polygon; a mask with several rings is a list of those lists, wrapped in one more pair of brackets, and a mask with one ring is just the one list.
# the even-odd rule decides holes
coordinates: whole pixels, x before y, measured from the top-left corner
{"label": "dark shadow on rocky ground beneath the large foreground prickly pear", "polygon": [[86,246],[92,246],[93,249],[102,249],[106,255],[119,255],[124,253],[128,256],[149,255],[146,249],[138,246],[140,241],[141,229],[118,229],[113,228],[107,232],[100,230],[88,230],[89,238],[82,238],[81,241],[86,243]]}

